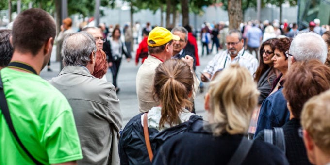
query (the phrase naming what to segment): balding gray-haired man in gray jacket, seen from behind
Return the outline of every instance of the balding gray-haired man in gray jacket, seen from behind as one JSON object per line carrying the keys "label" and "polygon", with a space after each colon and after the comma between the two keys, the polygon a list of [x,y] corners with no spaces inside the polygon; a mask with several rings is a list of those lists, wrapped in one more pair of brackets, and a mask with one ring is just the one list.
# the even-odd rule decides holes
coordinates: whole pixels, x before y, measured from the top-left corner
{"label": "balding gray-haired man in gray jacket, seen from behind", "polygon": [[73,109],[83,154],[78,164],[116,165],[122,116],[115,87],[91,75],[96,51],[91,34],[68,34],[62,48],[64,68],[49,82]]}

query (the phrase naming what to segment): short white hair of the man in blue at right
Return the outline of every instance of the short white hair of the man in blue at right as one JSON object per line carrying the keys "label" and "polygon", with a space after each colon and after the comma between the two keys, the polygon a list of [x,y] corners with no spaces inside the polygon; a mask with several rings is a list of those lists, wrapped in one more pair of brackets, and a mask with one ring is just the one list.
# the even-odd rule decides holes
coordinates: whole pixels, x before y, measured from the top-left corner
{"label": "short white hair of the man in blue at right", "polygon": [[296,61],[317,59],[324,63],[327,59],[327,44],[322,37],[314,32],[297,34],[290,46],[290,54]]}

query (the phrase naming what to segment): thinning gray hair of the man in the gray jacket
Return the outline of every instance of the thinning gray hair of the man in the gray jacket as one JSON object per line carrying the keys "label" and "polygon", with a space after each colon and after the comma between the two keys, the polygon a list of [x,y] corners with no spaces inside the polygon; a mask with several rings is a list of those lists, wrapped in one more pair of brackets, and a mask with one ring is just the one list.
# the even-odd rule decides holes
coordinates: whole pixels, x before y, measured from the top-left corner
{"label": "thinning gray hair of the man in the gray jacket", "polygon": [[62,46],[64,66],[87,66],[91,61],[89,55],[93,51],[96,52],[96,44],[91,34],[87,32],[68,34]]}

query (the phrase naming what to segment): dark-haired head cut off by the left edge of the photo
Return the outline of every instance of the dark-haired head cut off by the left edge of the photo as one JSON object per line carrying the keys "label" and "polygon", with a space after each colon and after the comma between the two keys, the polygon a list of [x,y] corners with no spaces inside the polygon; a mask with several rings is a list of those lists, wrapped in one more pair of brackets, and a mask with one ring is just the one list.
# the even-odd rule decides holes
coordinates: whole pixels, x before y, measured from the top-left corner
{"label": "dark-haired head cut off by the left edge of the photo", "polygon": [[9,29],[0,30],[0,70],[9,64],[13,56],[13,47],[9,41],[11,32]]}

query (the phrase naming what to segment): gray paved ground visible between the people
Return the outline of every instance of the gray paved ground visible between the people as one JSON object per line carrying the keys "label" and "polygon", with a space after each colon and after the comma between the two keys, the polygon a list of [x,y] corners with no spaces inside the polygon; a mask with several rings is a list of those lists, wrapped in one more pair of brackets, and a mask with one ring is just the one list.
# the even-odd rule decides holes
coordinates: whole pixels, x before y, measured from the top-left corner
{"label": "gray paved ground visible between the people", "polygon": [[[134,47],[136,49],[137,45],[134,45]],[[52,77],[56,77],[60,72],[60,62],[55,62],[55,50],[56,46],[53,48],[53,53],[51,56],[51,69],[53,71],[48,72],[47,67],[45,67],[40,73],[40,76],[46,80],[51,79]],[[201,52],[200,45],[198,50],[200,50]],[[207,62],[214,57],[214,54],[215,52],[212,55],[199,57],[201,66],[198,66],[196,69],[198,77],[200,77],[200,71],[202,71],[206,66]],[[135,52],[132,52],[132,57],[135,57]],[[120,87],[120,92],[117,94],[117,97],[120,99],[120,108],[123,114],[124,126],[134,115],[137,115],[139,113],[135,87],[136,73],[139,69],[139,66],[135,66],[134,59],[132,59],[131,62],[127,62],[125,59],[123,59],[120,66],[117,80],[118,86]],[[112,76],[110,71],[107,72],[106,76],[108,81],[111,82]],[[204,93],[200,93],[198,91],[196,95],[195,109],[197,115],[201,115],[204,117],[204,119],[207,119],[204,110],[204,95],[205,91],[207,90],[208,84],[204,83],[204,86]]]}

